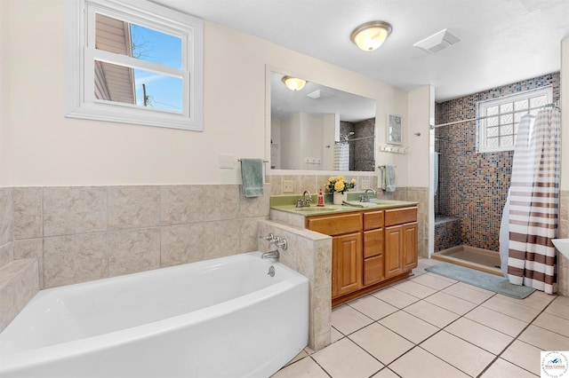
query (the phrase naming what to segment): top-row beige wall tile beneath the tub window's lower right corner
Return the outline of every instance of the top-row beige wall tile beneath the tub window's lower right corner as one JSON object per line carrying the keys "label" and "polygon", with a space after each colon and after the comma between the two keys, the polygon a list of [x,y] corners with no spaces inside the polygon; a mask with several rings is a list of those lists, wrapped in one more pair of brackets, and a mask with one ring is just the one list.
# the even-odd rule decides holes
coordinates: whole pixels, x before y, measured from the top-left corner
{"label": "top-row beige wall tile beneath the tub window's lower right corner", "polygon": [[162,225],[196,223],[204,219],[200,185],[164,185],[161,187]]}

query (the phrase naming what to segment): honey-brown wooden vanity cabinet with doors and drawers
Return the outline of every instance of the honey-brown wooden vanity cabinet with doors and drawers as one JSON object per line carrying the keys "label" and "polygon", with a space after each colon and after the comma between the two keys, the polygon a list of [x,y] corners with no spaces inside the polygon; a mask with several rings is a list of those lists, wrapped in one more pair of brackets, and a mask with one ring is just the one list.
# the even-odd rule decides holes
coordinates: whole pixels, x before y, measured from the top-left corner
{"label": "honey-brown wooden vanity cabinet with doors and drawers", "polygon": [[306,218],[306,228],[333,237],[333,305],[397,280],[417,266],[417,207]]}

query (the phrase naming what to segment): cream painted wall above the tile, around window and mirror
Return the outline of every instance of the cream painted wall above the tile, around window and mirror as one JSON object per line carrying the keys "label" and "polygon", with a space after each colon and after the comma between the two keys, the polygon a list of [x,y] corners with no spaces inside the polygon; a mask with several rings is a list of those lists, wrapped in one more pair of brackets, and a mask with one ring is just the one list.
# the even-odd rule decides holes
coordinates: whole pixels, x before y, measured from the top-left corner
{"label": "cream painted wall above the tile, around window and mirror", "polygon": [[406,109],[387,84],[205,22],[203,132],[67,119],[63,0],[0,3],[3,186],[238,184],[219,154],[268,159],[267,66],[376,98],[381,118]]}

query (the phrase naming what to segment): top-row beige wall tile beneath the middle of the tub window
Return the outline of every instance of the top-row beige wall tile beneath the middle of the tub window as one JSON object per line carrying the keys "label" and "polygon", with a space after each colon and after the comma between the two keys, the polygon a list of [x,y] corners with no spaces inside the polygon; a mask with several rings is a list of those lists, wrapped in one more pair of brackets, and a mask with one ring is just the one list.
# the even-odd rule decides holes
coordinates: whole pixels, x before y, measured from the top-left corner
{"label": "top-row beige wall tile beneath the middle of the tub window", "polygon": [[110,186],[108,229],[126,230],[160,225],[159,186]]}

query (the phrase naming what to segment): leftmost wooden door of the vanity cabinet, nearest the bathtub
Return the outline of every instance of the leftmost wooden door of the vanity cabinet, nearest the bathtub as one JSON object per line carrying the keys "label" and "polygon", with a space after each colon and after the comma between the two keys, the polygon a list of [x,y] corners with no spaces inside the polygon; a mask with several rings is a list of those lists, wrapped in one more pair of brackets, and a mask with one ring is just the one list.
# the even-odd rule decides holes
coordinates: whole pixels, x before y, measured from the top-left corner
{"label": "leftmost wooden door of the vanity cabinet, nearest the bathtub", "polygon": [[332,296],[349,294],[362,287],[362,233],[333,238]]}

